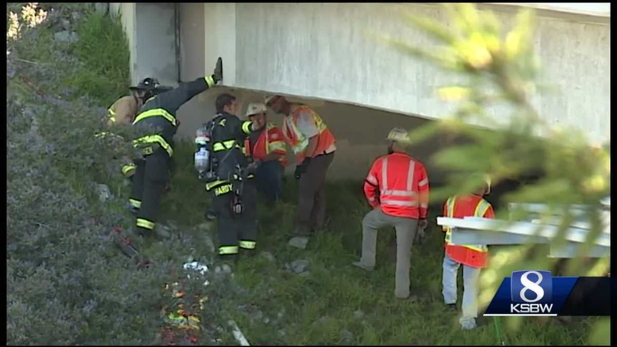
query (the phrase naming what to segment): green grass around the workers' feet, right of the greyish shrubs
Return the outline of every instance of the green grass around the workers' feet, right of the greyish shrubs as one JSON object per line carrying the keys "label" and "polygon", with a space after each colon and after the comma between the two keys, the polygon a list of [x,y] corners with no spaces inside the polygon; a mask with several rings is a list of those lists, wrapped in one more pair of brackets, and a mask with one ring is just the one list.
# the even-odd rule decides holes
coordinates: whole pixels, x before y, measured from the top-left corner
{"label": "green grass around the workers' feet, right of the greyish shrubs", "polygon": [[[203,183],[197,180],[193,169],[192,151],[191,143],[178,144],[178,172],[163,210],[164,219],[183,225],[203,222],[208,203]],[[361,187],[358,182],[328,184],[331,222],[305,250],[288,246],[289,238],[285,235],[294,218],[296,180],[288,178],[283,203],[270,211],[260,206],[257,247],[259,251],[272,253],[276,261],[262,256],[241,257],[234,272],[239,285],[247,289],[247,295],[223,298],[223,311],[238,322],[249,342],[254,345],[499,343],[492,319],[481,318],[479,328],[463,332],[458,327],[460,309],[452,314],[444,308],[441,296],[443,233],[434,222],[429,223],[429,238],[424,245],[413,248],[412,292],[420,296],[418,303],[394,298],[394,229],[379,232],[378,267],[374,272],[350,266],[360,257],[361,222],[369,211]],[[429,213],[436,216],[438,212]],[[212,229],[204,233],[216,240],[215,228]],[[204,245],[194,247],[198,249],[197,254],[204,254]],[[285,270],[286,263],[297,259],[310,261],[309,275],[299,276]],[[460,305],[462,275],[458,282]],[[259,307],[270,321],[251,319],[238,309],[242,304]],[[362,311],[362,317],[354,316],[358,310]],[[506,333],[506,338],[511,345],[582,345],[593,321],[587,319],[584,324],[565,326],[554,319],[525,317],[525,328]]]}

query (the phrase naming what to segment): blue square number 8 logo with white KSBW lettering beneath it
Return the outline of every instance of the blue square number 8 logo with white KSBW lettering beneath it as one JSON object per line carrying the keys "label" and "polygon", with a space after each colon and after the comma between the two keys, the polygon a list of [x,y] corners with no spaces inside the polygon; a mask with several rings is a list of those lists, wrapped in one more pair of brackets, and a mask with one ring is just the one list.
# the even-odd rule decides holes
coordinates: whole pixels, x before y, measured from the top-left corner
{"label": "blue square number 8 logo with white KSBW lettering beneath it", "polygon": [[553,278],[550,271],[512,272],[510,313],[550,315],[553,309]]}

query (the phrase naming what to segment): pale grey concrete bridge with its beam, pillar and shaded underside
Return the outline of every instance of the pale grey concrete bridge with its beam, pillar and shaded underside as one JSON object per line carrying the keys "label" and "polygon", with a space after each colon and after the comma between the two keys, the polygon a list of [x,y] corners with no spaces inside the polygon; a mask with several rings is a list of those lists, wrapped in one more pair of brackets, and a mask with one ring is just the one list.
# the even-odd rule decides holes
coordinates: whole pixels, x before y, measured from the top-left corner
{"label": "pale grey concrete bridge with its beam, pillar and shaded underside", "polygon": [[[331,178],[362,179],[373,159],[384,154],[384,137],[392,127],[412,129],[450,114],[454,106],[439,101],[434,90],[463,82],[367,35],[392,35],[428,46],[429,38],[406,27],[397,14],[411,10],[444,19],[434,4],[118,6],[130,41],[133,81],[155,75],[174,85],[178,79],[210,73],[215,59],[223,57],[226,88],[206,91],[180,109],[180,136],[191,138],[212,117],[213,100],[224,90],[239,96],[242,112],[264,93],[287,94],[315,106],[337,137]],[[513,7],[491,9],[509,28]],[[558,93],[536,96],[534,106],[553,125],[581,128],[594,143],[610,141],[610,17],[542,11],[534,48],[543,80]],[[499,119],[510,115],[505,107],[489,112]],[[281,123],[280,115],[270,117]],[[413,149],[413,155],[427,162],[447,144],[447,139],[436,138]],[[427,165],[434,182],[441,180],[442,174]]]}

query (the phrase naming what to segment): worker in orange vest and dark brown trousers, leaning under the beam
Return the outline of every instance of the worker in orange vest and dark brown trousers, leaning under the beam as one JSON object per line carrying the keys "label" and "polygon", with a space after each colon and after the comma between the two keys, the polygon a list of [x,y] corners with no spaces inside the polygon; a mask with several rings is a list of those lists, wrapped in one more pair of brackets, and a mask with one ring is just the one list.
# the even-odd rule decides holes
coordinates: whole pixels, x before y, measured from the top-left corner
{"label": "worker in orange vest and dark brown trousers, leaning under the beam", "polygon": [[326,172],[334,159],[336,140],[317,112],[283,96],[267,96],[266,106],[283,114],[283,135],[296,156],[300,180],[297,223],[292,236],[309,236],[326,224]]}

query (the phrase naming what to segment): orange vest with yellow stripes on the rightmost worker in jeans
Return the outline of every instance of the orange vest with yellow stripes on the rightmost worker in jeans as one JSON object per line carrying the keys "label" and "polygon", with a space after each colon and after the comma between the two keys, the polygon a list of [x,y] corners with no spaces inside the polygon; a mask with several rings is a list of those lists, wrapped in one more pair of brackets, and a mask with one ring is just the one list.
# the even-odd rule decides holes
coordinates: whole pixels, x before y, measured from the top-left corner
{"label": "orange vest with yellow stripes on the rightmost worker in jeans", "polygon": [[[478,195],[452,196],[444,204],[444,215],[450,218],[495,218],[491,204]],[[486,245],[452,245],[452,228],[444,227],[445,252],[457,262],[471,267],[486,267],[489,249]]]}

